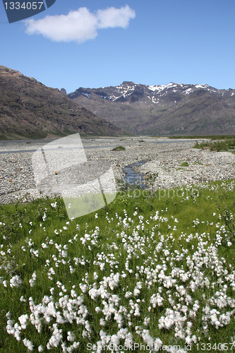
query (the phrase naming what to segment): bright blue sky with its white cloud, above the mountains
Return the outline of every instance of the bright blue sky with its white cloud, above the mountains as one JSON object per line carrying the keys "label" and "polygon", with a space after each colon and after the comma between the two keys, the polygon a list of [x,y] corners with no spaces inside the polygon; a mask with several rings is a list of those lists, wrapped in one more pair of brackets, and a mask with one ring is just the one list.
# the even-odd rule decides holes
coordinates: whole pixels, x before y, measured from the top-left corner
{"label": "bright blue sky with its white cloud, above the mountains", "polygon": [[1,1],[0,64],[67,92],[123,80],[235,88],[234,13],[234,0],[56,0],[9,24]]}

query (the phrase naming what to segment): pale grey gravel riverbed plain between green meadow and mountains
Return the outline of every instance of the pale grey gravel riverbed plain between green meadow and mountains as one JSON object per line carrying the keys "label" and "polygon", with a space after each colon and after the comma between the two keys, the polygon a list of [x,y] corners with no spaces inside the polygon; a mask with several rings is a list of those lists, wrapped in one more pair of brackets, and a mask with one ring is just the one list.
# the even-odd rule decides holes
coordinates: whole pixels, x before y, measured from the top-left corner
{"label": "pale grey gravel riverbed plain between green meadow and mountains", "polygon": [[[37,198],[32,168],[32,155],[52,140],[0,141],[0,203],[13,203],[18,198]],[[116,179],[123,179],[128,164],[147,161],[136,171],[157,175],[154,189],[170,189],[202,181],[235,179],[235,155],[193,148],[195,140],[140,136],[134,138],[85,138],[83,147],[88,162],[112,166]],[[118,145],[126,150],[112,151]],[[186,165],[182,165],[186,164]]]}

